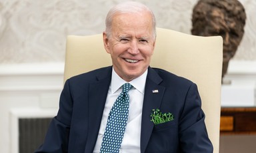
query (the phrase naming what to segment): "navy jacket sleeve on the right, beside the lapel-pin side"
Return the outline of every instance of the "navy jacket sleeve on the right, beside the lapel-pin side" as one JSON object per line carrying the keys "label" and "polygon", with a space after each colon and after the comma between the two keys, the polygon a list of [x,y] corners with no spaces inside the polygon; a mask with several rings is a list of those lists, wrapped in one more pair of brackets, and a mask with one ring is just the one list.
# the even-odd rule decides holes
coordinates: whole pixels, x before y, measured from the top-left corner
{"label": "navy jacket sleeve on the right, beside the lapel-pin side", "polygon": [[191,84],[185,98],[179,122],[179,140],[181,152],[213,152],[196,84]]}

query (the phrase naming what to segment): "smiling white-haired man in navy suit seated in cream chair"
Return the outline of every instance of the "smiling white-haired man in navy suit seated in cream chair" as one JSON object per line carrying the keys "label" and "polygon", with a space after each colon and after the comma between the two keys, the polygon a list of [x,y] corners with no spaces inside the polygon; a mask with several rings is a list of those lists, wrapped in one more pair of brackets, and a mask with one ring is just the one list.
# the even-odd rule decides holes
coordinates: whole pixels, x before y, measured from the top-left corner
{"label": "smiling white-haired man in navy suit seated in cream chair", "polygon": [[[113,67],[65,82],[59,112],[36,152],[213,152],[197,86],[149,67],[155,38],[155,17],[145,5],[127,2],[113,7],[103,32]],[[121,110],[115,109],[121,101],[117,96],[127,82],[129,114],[120,132],[123,123],[116,124],[123,122],[119,114],[125,110],[114,112]]]}

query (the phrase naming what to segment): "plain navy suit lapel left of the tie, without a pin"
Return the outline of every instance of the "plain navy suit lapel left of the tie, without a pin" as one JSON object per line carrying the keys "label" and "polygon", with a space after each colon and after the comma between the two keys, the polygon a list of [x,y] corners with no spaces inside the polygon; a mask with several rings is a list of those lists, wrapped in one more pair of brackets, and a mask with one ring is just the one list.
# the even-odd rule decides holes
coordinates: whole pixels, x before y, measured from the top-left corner
{"label": "plain navy suit lapel left of the tie, without a pin", "polygon": [[109,84],[111,82],[111,70],[112,67],[104,69],[97,76],[97,81],[91,82],[89,86],[89,132],[85,145],[85,152],[93,152],[97,141],[99,127],[101,125],[101,117],[107,98],[107,91],[109,90]]}

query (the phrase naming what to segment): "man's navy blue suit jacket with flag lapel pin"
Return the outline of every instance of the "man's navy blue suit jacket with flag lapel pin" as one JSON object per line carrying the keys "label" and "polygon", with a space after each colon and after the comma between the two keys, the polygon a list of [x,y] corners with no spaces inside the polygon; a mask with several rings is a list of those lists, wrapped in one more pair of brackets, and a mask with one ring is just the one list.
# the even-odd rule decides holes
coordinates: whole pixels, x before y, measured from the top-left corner
{"label": "man's navy blue suit jacket with flag lapel pin", "polygon": [[[161,69],[148,69],[141,121],[141,152],[213,152],[196,84]],[[59,112],[36,152],[93,152],[111,82],[112,67],[74,76],[65,82]],[[158,90],[158,92],[152,92]],[[174,120],[153,124],[159,108]]]}

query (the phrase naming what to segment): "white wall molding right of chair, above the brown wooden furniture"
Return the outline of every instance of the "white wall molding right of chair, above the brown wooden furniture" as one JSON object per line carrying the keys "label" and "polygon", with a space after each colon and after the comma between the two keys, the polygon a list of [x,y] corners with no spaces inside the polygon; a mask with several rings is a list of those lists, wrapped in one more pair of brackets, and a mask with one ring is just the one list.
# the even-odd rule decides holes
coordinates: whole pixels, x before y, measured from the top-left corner
{"label": "white wall molding right of chair, above the brown wooden furniture", "polygon": [[221,106],[255,106],[256,61],[229,62],[221,87]]}

